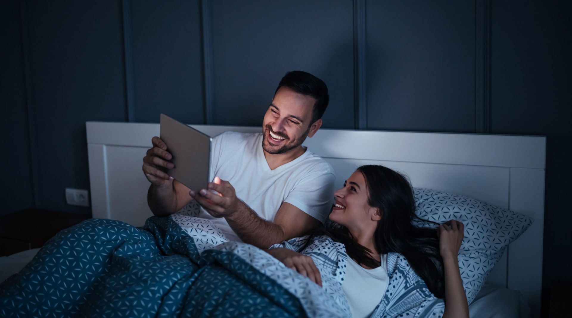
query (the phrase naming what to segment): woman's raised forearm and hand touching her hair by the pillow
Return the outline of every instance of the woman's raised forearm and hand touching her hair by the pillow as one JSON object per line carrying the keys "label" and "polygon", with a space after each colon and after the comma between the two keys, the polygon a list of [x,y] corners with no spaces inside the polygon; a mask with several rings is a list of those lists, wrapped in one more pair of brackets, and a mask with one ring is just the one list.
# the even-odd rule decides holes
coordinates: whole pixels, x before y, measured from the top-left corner
{"label": "woman's raised forearm and hand touching her hair by the pillow", "polygon": [[437,229],[439,251],[445,271],[445,312],[443,318],[467,317],[468,303],[457,254],[463,241],[463,223],[448,220]]}

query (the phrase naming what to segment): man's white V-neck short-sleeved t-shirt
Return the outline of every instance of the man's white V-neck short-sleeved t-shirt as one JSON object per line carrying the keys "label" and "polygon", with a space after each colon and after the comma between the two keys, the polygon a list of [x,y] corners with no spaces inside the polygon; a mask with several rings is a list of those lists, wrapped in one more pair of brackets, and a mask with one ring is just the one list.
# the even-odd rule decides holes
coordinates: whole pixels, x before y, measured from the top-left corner
{"label": "man's white V-neck short-sleeved t-shirt", "polygon": [[[224,132],[213,138],[209,179],[227,180],[260,218],[272,222],[283,202],[320,222],[333,204],[333,168],[306,150],[289,163],[271,170],[262,148],[263,134]],[[241,241],[224,218],[213,218],[201,208],[200,218],[211,220],[229,240]]]}

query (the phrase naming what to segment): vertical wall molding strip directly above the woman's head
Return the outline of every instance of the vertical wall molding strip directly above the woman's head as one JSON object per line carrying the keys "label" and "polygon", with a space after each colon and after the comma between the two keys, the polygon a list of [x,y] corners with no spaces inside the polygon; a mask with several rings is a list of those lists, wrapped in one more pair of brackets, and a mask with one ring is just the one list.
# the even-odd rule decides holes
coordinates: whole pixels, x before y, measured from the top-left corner
{"label": "vertical wall molding strip directly above the woman's head", "polygon": [[354,128],[367,129],[366,0],[353,0]]}

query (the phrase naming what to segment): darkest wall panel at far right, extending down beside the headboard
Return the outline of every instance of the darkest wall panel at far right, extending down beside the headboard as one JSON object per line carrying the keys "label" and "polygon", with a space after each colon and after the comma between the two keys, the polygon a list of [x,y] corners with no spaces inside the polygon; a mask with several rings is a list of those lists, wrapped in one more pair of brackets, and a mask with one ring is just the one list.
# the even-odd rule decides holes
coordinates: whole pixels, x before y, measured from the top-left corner
{"label": "darkest wall panel at far right, extending down beside the headboard", "polygon": [[572,280],[571,16],[569,1],[492,1],[492,133],[546,135],[543,289]]}

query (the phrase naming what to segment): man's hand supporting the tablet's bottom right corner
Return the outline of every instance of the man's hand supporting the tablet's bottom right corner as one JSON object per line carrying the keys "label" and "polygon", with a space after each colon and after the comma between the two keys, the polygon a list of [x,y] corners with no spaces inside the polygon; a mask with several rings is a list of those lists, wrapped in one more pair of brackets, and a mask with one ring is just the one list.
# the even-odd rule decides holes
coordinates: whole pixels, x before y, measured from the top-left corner
{"label": "man's hand supporting the tablet's bottom right corner", "polygon": [[191,190],[189,195],[210,215],[215,218],[224,218],[236,212],[244,203],[236,197],[235,188],[230,182],[221,180],[219,177],[215,177],[213,181],[209,182],[207,189],[202,189],[198,194]]}

